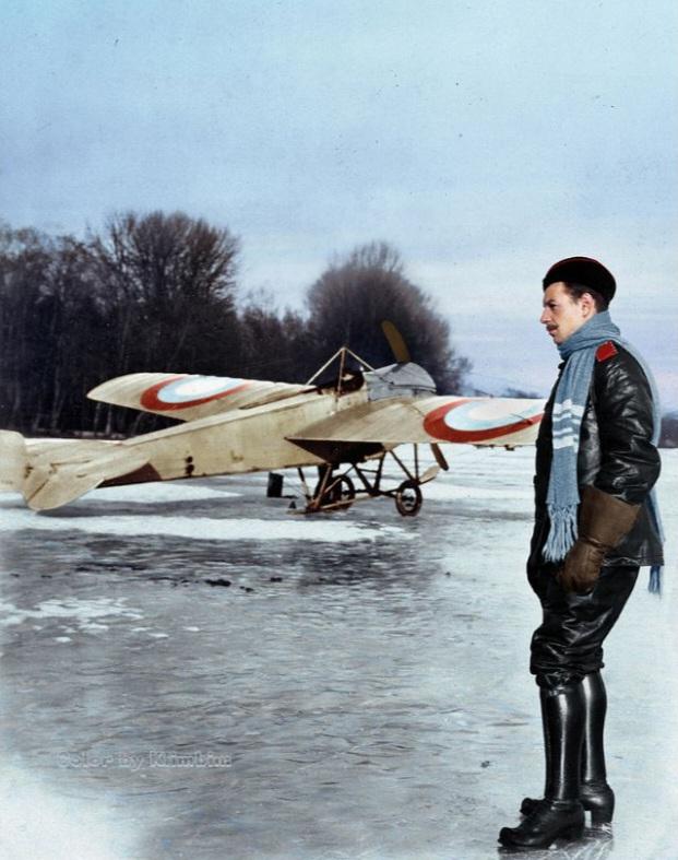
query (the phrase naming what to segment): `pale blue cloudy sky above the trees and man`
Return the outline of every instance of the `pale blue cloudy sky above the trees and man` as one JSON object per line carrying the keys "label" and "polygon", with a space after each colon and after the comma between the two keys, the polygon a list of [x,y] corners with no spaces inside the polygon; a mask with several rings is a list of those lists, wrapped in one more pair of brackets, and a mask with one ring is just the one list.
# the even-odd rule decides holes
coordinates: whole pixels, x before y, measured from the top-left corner
{"label": "pale blue cloudy sky above the trees and man", "polygon": [[489,390],[548,391],[540,279],[595,256],[676,408],[677,44],[675,0],[4,0],[0,217],[182,210],[279,307],[385,239]]}

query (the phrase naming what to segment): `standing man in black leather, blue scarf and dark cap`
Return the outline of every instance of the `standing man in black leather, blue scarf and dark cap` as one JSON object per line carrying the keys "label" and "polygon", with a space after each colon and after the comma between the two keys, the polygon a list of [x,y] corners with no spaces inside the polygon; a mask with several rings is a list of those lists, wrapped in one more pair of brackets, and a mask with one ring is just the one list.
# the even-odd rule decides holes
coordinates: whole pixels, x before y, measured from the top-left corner
{"label": "standing man in black leather, blue scarf and dark cap", "polygon": [[539,686],[546,785],[525,798],[522,823],[499,841],[546,848],[580,838],[584,810],[609,824],[615,794],[603,750],[603,641],[639,567],[658,582],[662,528],[652,487],[659,475],[659,405],[642,357],[607,310],[611,273],[570,257],[544,278],[542,323],[562,363],[539,428],[535,527],[527,576],[544,616],[531,646]]}

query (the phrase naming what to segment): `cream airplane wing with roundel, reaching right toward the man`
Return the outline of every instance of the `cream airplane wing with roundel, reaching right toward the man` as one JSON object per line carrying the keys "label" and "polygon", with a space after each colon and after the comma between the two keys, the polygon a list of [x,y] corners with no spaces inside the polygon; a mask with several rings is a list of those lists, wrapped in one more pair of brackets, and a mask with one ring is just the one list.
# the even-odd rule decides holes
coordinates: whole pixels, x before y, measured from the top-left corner
{"label": "cream airplane wing with roundel, reaching right toward the man", "polygon": [[544,400],[429,397],[368,402],[305,427],[288,437],[302,448],[323,443],[532,445]]}

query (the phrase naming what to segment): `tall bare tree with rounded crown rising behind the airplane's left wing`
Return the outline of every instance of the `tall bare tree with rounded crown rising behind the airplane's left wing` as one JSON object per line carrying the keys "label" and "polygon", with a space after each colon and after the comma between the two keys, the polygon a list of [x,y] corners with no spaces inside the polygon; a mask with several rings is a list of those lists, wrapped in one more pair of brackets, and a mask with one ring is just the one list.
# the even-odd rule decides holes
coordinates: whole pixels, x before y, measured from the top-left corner
{"label": "tall bare tree with rounded crown rising behind the airplane's left wing", "polygon": [[[103,236],[90,237],[90,250],[115,332],[109,376],[218,374],[237,364],[239,240],[228,229],[181,212],[127,212],[109,219]],[[109,431],[112,416],[108,410]]]}

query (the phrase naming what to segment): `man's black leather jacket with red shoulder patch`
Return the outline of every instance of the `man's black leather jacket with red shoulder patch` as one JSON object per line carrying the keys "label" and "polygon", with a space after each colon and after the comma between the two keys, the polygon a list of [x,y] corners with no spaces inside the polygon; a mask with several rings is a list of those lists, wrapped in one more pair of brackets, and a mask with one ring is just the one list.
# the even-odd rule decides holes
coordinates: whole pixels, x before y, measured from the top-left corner
{"label": "man's black leather jacket with red shoulder patch", "polygon": [[[612,565],[663,564],[662,542],[647,497],[659,476],[659,452],[652,443],[653,409],[647,378],[638,361],[619,344],[599,350],[582,419],[578,452],[580,493],[593,484],[617,498],[641,505],[631,531],[603,562]],[[560,374],[566,362],[560,365]],[[558,376],[558,380],[560,375]],[[549,531],[546,495],[551,467],[551,412],[558,380],[546,404],[536,452],[535,528],[528,568],[544,566],[542,550]]]}

